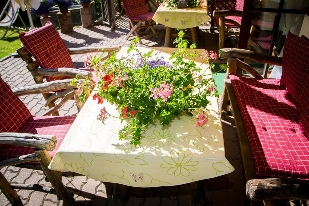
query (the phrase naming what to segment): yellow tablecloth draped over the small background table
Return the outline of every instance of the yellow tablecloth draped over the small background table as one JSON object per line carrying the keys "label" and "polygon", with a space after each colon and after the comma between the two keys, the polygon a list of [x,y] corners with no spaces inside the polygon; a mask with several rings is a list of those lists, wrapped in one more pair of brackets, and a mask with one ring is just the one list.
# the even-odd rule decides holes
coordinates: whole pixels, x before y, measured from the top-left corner
{"label": "yellow tablecloth draped over the small background table", "polygon": [[209,21],[207,6],[203,8],[169,9],[159,6],[152,18],[155,22],[171,28],[187,29]]}

